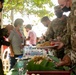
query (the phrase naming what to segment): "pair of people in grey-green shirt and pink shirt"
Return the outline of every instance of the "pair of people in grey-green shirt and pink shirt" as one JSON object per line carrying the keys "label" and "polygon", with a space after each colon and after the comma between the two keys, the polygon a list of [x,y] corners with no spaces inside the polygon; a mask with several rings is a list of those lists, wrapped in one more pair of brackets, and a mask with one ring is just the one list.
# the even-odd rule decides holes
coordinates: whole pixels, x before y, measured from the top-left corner
{"label": "pair of people in grey-green shirt and pink shirt", "polygon": [[26,31],[28,32],[27,38],[24,36],[23,31],[21,31],[23,25],[23,19],[16,19],[14,22],[14,29],[11,31],[8,39],[11,43],[10,45],[10,58],[11,58],[11,68],[16,63],[16,57],[22,56],[22,49],[26,45],[26,41],[29,40],[29,45],[36,45],[36,34],[32,31],[32,26],[30,24],[25,26]]}

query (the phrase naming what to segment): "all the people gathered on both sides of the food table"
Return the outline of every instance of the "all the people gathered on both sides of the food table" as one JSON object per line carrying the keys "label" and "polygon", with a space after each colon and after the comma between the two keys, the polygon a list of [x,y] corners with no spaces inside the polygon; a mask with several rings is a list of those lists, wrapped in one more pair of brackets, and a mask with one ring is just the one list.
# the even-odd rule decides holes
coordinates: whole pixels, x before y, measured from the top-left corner
{"label": "all the people gathered on both sides of the food table", "polygon": [[[0,1],[0,10],[2,11],[3,0]],[[54,7],[55,18],[51,21],[47,16],[41,19],[44,26],[47,27],[47,31],[44,35],[45,41],[52,41],[56,39],[55,43],[58,47],[55,51],[55,56],[61,59],[57,66],[76,64],[76,1],[75,0],[58,0],[59,5]],[[0,12],[1,12],[0,11]],[[64,12],[70,11],[69,16],[63,15]],[[14,27],[7,32],[8,33],[8,44],[10,48],[10,59],[11,68],[16,63],[16,57],[22,56],[22,48],[26,45],[26,40],[29,40],[31,45],[36,45],[36,33],[32,31],[32,25],[28,24],[25,26],[28,32],[27,38],[24,36],[23,31],[23,19],[18,18],[14,22]],[[5,30],[9,30],[6,27]],[[2,30],[2,29],[1,29]],[[3,31],[2,31],[3,32]],[[4,34],[1,33],[0,34]],[[0,46],[4,45],[4,36],[7,38],[6,34],[2,36],[2,41],[0,41]],[[3,42],[3,43],[2,43]],[[5,41],[6,42],[6,41]],[[0,74],[3,72],[1,69],[2,61],[0,59]],[[1,75],[4,75],[3,73]]]}

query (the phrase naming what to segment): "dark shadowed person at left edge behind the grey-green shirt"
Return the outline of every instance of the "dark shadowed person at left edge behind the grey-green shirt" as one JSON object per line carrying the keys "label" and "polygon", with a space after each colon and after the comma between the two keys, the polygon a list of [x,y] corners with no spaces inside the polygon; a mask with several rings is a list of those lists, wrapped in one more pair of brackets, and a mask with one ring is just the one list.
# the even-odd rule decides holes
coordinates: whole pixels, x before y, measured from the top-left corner
{"label": "dark shadowed person at left edge behind the grey-green shirt", "polygon": [[[8,37],[8,31],[5,28],[0,29],[0,54],[2,45],[10,46],[10,42],[5,40],[5,38],[7,37]],[[4,75],[1,55],[0,55],[0,75]]]}

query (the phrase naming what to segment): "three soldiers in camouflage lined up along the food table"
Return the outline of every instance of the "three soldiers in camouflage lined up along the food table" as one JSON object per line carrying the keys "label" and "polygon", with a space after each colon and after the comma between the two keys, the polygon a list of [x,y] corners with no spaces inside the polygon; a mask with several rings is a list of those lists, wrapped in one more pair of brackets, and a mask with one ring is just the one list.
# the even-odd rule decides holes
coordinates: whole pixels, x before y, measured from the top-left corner
{"label": "three soldiers in camouflage lined up along the food table", "polygon": [[[41,19],[44,26],[48,27],[45,40],[56,39],[58,44],[56,55],[61,58],[57,66],[76,65],[76,1],[58,0],[59,5],[54,7],[56,19],[50,21],[47,16]],[[69,16],[63,15],[70,11]]]}

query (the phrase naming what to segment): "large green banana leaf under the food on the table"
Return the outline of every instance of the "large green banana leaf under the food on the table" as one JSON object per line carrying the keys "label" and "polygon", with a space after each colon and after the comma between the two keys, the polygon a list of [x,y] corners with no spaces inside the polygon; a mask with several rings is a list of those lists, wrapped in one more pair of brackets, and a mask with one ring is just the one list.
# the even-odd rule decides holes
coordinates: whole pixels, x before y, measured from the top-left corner
{"label": "large green banana leaf under the food on the table", "polygon": [[[30,67],[31,66],[31,67]],[[28,62],[28,71],[61,71],[63,67],[56,67],[54,62],[44,59],[40,64],[34,63],[33,60]]]}

